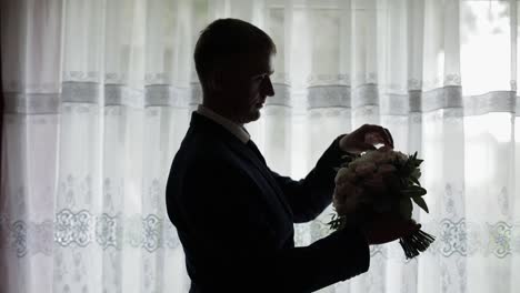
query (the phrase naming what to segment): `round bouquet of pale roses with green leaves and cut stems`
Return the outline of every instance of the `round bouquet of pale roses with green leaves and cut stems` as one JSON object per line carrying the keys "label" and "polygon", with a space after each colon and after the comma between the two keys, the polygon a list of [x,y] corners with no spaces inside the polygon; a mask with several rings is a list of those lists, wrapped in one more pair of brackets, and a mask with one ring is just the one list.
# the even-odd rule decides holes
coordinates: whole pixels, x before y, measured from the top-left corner
{"label": "round bouquet of pale roses with green leaves and cut stems", "polygon": [[[330,229],[342,229],[349,221],[347,199],[351,196],[371,196],[371,213],[391,213],[403,221],[412,216],[412,201],[428,213],[428,205],[422,198],[427,191],[419,183],[422,160],[399,151],[379,149],[364,152],[342,163],[336,175],[333,208],[337,214],[329,222]],[[407,259],[423,252],[434,238],[420,229],[399,240]]]}

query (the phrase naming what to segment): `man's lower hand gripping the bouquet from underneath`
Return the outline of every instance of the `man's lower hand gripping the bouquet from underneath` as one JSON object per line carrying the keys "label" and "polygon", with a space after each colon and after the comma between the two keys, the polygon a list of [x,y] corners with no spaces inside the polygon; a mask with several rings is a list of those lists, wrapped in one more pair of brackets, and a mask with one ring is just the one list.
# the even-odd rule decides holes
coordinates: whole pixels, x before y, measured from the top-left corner
{"label": "man's lower hand gripping the bouquet from underneath", "polygon": [[413,220],[403,220],[394,213],[378,213],[361,226],[367,242],[383,244],[407,236],[421,229]]}

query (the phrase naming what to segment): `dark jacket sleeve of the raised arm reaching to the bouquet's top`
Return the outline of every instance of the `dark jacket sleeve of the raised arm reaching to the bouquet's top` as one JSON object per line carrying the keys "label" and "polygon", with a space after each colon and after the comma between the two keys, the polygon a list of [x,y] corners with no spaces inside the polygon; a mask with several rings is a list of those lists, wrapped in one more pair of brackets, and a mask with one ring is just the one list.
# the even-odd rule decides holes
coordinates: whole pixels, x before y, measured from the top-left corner
{"label": "dark jacket sleeve of the raised arm reaching to the bouquet's top", "polygon": [[316,166],[302,180],[294,181],[271,171],[291,205],[294,223],[314,220],[331,203],[337,173],[334,169],[340,166],[341,156],[348,154],[339,148],[339,140],[343,135],[330,144]]}

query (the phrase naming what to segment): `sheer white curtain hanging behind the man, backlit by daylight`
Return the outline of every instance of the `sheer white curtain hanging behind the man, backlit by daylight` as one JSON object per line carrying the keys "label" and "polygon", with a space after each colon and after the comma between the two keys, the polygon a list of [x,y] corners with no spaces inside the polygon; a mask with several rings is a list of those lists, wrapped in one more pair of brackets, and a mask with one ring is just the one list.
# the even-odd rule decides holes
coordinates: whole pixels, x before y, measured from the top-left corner
{"label": "sheer white curtain hanging behind the man, backlit by daylight", "polygon": [[426,160],[433,246],[372,246],[368,273],[323,292],[518,291],[517,1],[4,0],[2,292],[187,292],[164,183],[201,101],[198,32],[226,17],[278,46],[248,125],[271,169],[301,178],[362,123]]}

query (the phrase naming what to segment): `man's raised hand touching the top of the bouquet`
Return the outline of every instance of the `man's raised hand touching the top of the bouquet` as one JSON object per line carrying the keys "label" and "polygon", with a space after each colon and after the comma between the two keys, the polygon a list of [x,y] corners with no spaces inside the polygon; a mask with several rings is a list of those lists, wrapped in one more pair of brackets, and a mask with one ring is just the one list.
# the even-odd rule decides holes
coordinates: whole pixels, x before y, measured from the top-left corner
{"label": "man's raised hand touching the top of the bouquet", "polygon": [[374,150],[374,144],[382,143],[387,148],[393,149],[393,139],[388,129],[380,125],[364,124],[341,138],[339,146],[344,152],[360,153]]}

